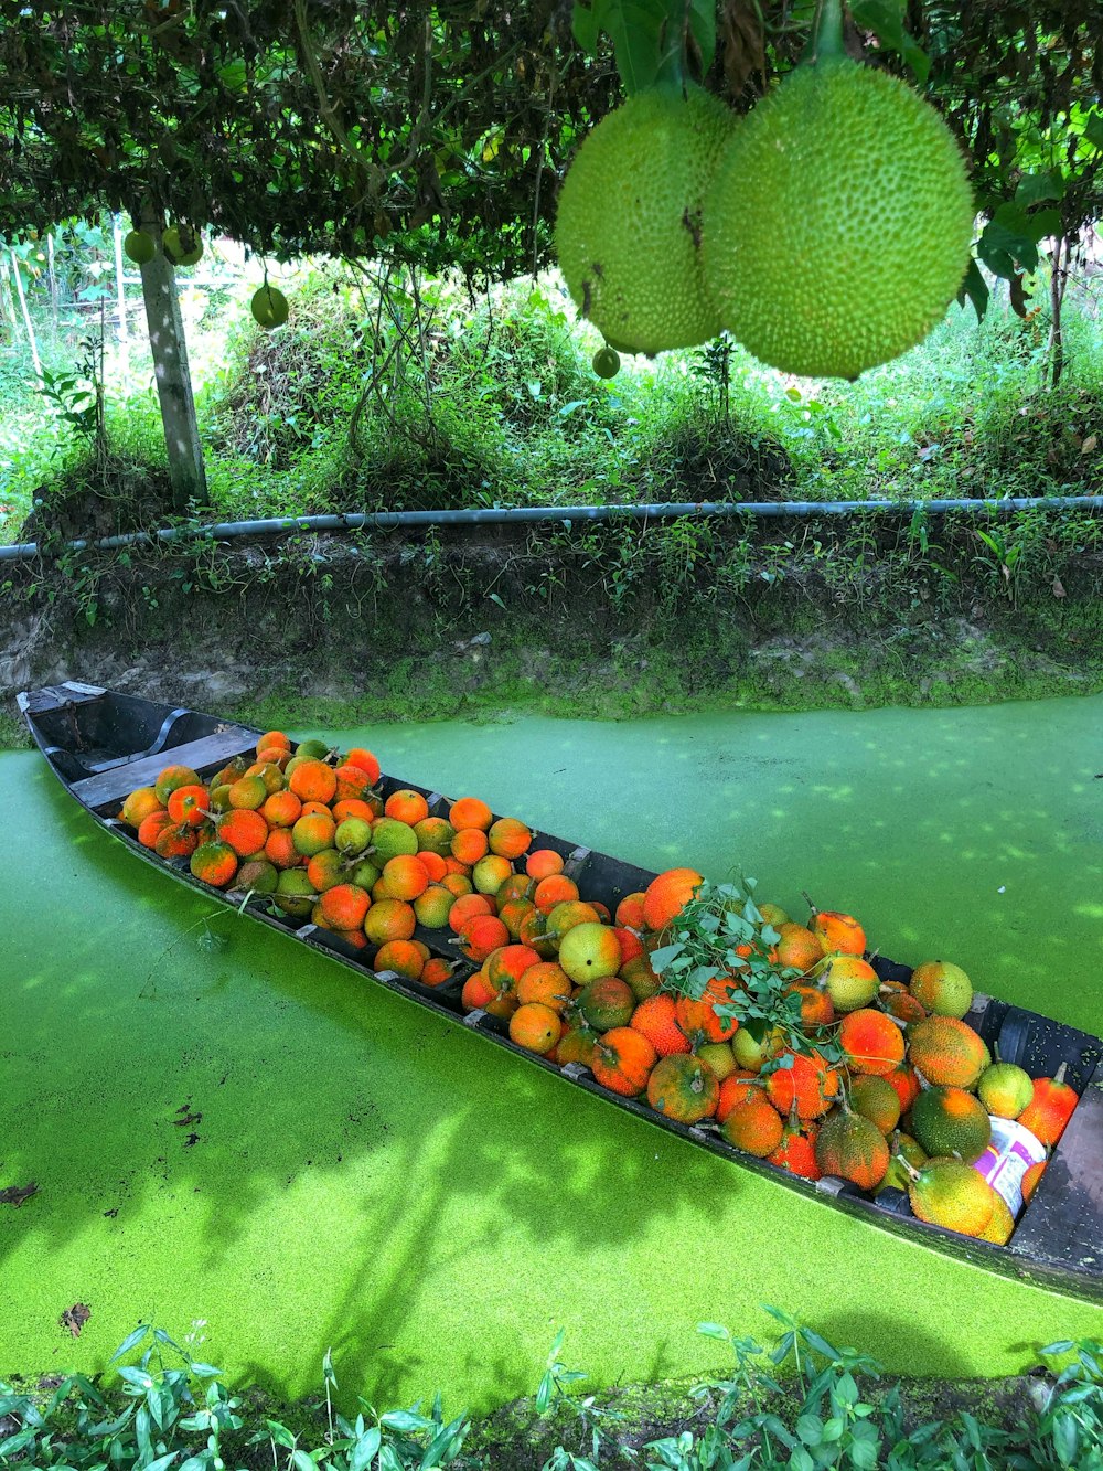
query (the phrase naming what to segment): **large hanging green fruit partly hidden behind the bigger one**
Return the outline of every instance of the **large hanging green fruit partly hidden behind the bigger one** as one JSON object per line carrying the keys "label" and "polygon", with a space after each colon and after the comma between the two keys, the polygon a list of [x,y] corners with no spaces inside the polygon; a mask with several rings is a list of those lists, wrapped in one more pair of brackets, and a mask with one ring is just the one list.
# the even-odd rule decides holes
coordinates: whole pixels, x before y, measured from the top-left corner
{"label": "large hanging green fruit partly hidden behind the bigger one", "polygon": [[587,134],[559,193],[556,254],[609,344],[660,353],[719,331],[702,284],[702,200],[734,115],[707,93],[635,93]]}

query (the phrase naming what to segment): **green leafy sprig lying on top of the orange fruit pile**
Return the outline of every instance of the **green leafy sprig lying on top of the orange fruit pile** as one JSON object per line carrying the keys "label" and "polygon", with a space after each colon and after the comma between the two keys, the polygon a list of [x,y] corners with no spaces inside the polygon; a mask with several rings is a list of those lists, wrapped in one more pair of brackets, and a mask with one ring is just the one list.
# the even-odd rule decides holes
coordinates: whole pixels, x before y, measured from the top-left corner
{"label": "green leafy sprig lying on top of the orange fruit pile", "polygon": [[[781,936],[756,906],[754,888],[753,878],[744,878],[741,886],[706,880],[697,887],[669,927],[674,938],[652,952],[662,989],[700,1000],[712,981],[731,977],[729,1000],[715,1008],[719,1018],[737,1021],[757,1043],[779,1033],[790,1052],[840,1062],[840,1044],[810,1037],[802,1024],[800,994],[793,986],[807,977],[778,962],[774,946]],[[763,1072],[785,1066],[793,1066],[793,1059],[782,1055],[765,1062]]]}

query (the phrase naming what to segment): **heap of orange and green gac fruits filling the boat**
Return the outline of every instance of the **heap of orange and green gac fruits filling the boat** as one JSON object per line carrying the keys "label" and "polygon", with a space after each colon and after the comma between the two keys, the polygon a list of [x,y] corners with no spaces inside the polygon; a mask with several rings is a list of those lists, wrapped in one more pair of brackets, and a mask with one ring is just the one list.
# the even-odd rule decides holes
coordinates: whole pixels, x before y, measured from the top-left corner
{"label": "heap of orange and green gac fruits filling the boat", "polygon": [[[1019,1118],[1053,1146],[1077,1094],[1060,1077],[1022,1074],[1024,1084],[1012,1077],[1021,1069],[993,1068],[962,1019],[972,987],[957,966],[932,961],[907,984],[882,981],[852,915],[813,909],[797,924],[777,905],[749,908],[759,956],[797,997],[804,1044],[794,1047],[781,1028],[740,1027],[746,961],[699,999],[652,964],[707,888],[696,869],[668,869],[610,912],[519,819],[496,818],[479,797],[449,803],[447,816],[412,788],[384,799],[379,778],[369,750],[293,749],[269,731],[254,761],[237,758],[206,781],[166,766],[121,816],[204,883],[268,896],[291,919],[371,947],[376,972],[438,987],[462,971],[466,1012],[500,1018],[519,1047],[588,1068],[612,1093],[804,1178],[893,1184],[924,1219],[1009,1239],[1010,1212],[981,1174],[969,1171],[982,1192],[946,1167],[981,1156],[990,1114]],[[437,931],[432,946],[419,930]],[[1027,1199],[1043,1169],[1024,1181]]]}

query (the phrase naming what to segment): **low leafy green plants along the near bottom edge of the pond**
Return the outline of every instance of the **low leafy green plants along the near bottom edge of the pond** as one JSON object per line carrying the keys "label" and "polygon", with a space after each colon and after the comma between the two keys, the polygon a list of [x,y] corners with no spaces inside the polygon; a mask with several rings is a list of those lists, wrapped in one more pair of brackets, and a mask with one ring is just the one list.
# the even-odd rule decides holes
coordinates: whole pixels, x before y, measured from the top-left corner
{"label": "low leafy green plants along the near bottom edge of the pond", "polygon": [[[699,1331],[728,1346],[732,1368],[657,1414],[652,1399],[632,1415],[622,1390],[582,1393],[585,1374],[559,1358],[560,1333],[534,1399],[481,1422],[466,1412],[446,1418],[440,1393],[431,1406],[390,1411],[360,1397],[354,1414],[343,1414],[329,1353],[322,1397],[278,1406],[256,1390],[226,1386],[218,1368],[199,1362],[193,1343],[197,1337],[201,1343],[201,1334],[185,1336],[181,1346],[146,1324],[128,1336],[112,1359],[119,1368],[100,1375],[100,1383],[81,1374],[54,1374],[31,1389],[0,1381],[0,1467],[1093,1471],[1103,1465],[1100,1343],[1041,1349],[1043,1359],[1057,1362],[1018,1397],[1010,1415],[990,1417],[974,1405],[979,1414],[956,1409],[928,1418],[899,1386],[878,1384],[878,1365],[866,1355],[827,1343],[779,1309],[768,1311],[781,1328],[771,1350],[719,1324],[699,1324]],[[79,1331],[81,1319],[74,1325]]]}

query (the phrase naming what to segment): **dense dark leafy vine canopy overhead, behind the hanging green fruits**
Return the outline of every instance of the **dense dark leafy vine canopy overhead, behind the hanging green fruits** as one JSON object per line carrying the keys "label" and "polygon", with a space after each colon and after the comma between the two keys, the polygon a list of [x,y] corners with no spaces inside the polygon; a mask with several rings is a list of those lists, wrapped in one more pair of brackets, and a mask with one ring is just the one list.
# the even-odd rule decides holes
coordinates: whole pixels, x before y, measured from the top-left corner
{"label": "dense dark leafy vine canopy overhead, behind the hanging green fruits", "polygon": [[[516,275],[549,259],[557,179],[622,84],[690,76],[746,110],[797,62],[815,9],[0,0],[0,232],[106,206],[262,253]],[[962,138],[997,274],[1103,213],[1100,0],[849,13],[850,44],[925,88]]]}

